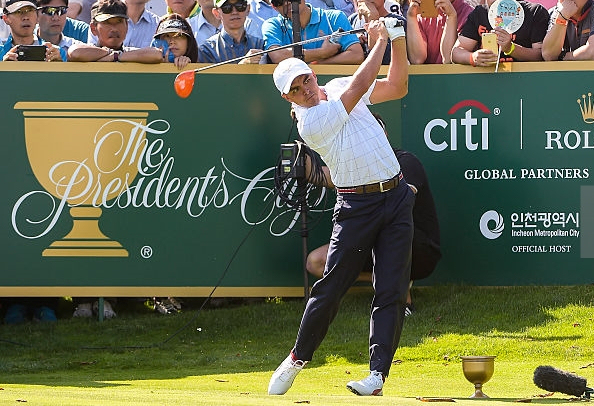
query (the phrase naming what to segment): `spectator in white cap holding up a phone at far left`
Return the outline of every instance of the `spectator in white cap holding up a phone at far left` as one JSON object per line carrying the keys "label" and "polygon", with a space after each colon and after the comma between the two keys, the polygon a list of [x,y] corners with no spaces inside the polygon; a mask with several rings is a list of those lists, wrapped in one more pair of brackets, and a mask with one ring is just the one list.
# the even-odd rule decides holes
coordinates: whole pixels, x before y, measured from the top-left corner
{"label": "spectator in white cap holding up a phone at far left", "polygon": [[0,58],[3,61],[62,61],[58,46],[44,42],[35,35],[37,24],[35,0],[7,0],[2,19],[10,27],[10,35],[0,47]]}

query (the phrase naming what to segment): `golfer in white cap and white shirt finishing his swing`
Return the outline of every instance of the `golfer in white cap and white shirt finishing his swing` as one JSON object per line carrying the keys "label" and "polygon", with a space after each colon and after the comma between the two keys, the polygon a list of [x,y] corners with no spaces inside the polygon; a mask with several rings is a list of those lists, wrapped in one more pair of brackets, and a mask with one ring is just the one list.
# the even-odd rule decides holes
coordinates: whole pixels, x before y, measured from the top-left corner
{"label": "golfer in white cap and white shirt finishing his swing", "polygon": [[[411,264],[414,194],[388,139],[366,104],[408,92],[404,28],[396,19],[366,26],[375,46],[352,77],[320,87],[303,61],[285,59],[274,84],[292,103],[303,140],[328,165],[337,197],[324,277],[312,287],[295,346],[272,374],[268,393],[285,394],[324,339],[342,297],[373,253],[370,375],[347,384],[357,395],[382,395],[402,331]],[[388,76],[376,79],[388,41]]]}

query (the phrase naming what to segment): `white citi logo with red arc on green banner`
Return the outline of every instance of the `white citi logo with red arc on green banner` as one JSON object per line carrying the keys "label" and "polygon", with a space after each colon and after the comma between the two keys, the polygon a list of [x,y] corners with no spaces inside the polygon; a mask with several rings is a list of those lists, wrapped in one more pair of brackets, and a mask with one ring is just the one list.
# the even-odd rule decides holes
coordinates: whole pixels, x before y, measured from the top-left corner
{"label": "white citi logo with red arc on green banner", "polygon": [[[473,109],[477,109],[484,114],[491,114],[491,110],[477,100],[462,100],[453,105],[448,110],[448,114],[455,114],[462,109],[466,109],[463,118],[452,117],[449,121],[434,118],[427,123],[423,138],[425,139],[425,145],[430,150],[436,152],[446,149],[456,151],[459,138],[468,151],[475,151],[479,147],[482,150],[489,149],[489,118],[482,117],[479,123],[479,118],[473,116]],[[494,109],[493,114],[498,115],[499,109]],[[460,136],[458,136],[459,128]]]}

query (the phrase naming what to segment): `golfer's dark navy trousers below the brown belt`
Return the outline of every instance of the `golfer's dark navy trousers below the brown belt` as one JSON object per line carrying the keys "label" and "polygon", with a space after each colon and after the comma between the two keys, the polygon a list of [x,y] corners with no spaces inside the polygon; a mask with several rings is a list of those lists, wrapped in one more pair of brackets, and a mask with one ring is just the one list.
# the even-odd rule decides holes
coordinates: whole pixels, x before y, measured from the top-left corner
{"label": "golfer's dark navy trousers below the brown belt", "polygon": [[339,194],[324,277],[312,287],[293,354],[310,361],[373,254],[369,369],[388,376],[404,323],[410,281],[414,194],[406,181],[383,193]]}

